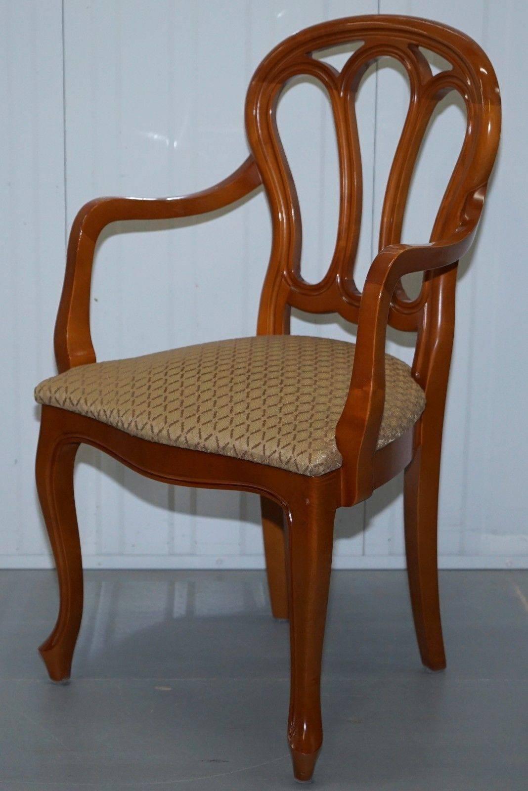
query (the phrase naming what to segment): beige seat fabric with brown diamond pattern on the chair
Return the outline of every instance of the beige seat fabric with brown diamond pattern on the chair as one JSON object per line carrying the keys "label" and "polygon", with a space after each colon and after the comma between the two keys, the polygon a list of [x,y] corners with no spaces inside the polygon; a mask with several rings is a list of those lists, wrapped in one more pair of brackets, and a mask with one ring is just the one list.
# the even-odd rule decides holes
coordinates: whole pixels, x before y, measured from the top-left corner
{"label": "beige seat fabric with brown diamond pattern on the chair", "polygon": [[[88,415],[134,437],[270,464],[302,475],[341,466],[335,429],[353,343],[262,335],[79,365],[36,388],[39,403]],[[413,426],[424,392],[386,356],[378,448]]]}

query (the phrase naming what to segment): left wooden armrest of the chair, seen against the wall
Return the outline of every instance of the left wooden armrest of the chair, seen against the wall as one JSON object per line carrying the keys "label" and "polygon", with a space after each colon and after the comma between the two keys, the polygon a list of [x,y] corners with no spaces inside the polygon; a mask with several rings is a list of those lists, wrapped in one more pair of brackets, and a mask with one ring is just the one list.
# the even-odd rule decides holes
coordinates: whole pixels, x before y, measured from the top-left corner
{"label": "left wooden armrest of the chair, seen against the wall", "polygon": [[227,179],[179,198],[96,198],[81,208],[72,225],[66,274],[55,323],[59,373],[96,361],[90,335],[90,286],[97,239],[106,225],[121,220],[190,217],[224,208],[254,191],[262,178],[253,157]]}

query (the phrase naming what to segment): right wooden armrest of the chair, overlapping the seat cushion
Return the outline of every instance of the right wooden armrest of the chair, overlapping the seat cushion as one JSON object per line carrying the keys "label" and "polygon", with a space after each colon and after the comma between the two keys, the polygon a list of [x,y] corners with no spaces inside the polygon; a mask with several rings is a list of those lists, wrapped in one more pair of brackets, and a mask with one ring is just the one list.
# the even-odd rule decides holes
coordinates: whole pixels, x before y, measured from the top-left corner
{"label": "right wooden armrest of the chair, overlapping the seat cushion", "polygon": [[371,264],[361,297],[349,395],[336,429],[345,498],[364,499],[372,491],[372,465],[385,403],[387,320],[394,290],[404,274],[447,271],[456,265],[469,250],[476,229],[475,222],[458,228],[446,241],[390,244]]}

